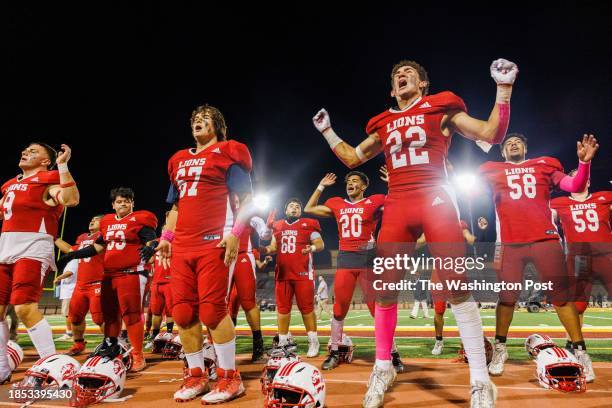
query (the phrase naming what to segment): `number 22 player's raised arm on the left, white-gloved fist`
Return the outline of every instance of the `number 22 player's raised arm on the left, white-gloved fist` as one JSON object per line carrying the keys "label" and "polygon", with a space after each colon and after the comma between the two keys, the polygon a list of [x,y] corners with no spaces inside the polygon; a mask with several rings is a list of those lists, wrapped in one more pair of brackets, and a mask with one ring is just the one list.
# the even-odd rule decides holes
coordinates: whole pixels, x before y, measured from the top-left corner
{"label": "number 22 player's raised arm on the left, white-gloved fist", "polygon": [[312,118],[312,123],[323,135],[329,147],[348,168],[354,169],[382,152],[383,146],[378,134],[372,133],[356,148],[344,142],[331,127],[329,114],[321,109]]}

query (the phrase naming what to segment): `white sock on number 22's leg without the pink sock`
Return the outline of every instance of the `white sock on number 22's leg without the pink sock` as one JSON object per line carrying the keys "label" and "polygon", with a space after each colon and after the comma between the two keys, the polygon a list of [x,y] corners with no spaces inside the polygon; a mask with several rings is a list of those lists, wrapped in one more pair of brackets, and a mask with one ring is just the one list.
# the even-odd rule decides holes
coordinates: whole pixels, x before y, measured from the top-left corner
{"label": "white sock on number 22's leg without the pink sock", "polygon": [[470,296],[470,299],[458,305],[451,304],[451,308],[459,327],[465,355],[468,358],[471,381],[489,382],[482,320],[480,319],[480,311],[476,302]]}

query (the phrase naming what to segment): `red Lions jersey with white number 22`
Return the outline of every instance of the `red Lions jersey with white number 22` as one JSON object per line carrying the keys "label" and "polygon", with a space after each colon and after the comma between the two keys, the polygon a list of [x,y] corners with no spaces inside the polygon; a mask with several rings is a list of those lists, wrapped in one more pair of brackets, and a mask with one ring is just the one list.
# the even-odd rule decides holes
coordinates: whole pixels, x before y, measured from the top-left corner
{"label": "red Lions jersey with white number 22", "polygon": [[440,130],[442,118],[466,111],[452,92],[423,96],[404,110],[389,109],[370,119],[366,133],[377,133],[389,170],[389,193],[446,183],[446,156],[451,136]]}

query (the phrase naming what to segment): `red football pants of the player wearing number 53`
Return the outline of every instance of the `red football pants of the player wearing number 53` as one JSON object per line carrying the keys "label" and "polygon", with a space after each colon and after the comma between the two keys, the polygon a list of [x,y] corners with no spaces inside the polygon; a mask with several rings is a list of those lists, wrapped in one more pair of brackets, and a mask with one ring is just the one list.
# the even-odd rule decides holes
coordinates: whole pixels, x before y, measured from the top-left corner
{"label": "red football pants of the player wearing number 53", "polygon": [[[105,325],[122,318],[130,326],[142,320],[148,278],[138,273],[106,273],[102,279],[102,314]],[[110,335],[110,334],[109,334]]]}

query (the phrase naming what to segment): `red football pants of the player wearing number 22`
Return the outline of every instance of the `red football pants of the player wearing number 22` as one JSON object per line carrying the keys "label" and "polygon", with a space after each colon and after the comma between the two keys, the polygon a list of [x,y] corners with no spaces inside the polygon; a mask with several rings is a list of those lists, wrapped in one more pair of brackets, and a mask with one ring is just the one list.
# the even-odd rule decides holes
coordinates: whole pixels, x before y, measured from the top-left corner
{"label": "red football pants of the player wearing number 22", "polygon": [[[377,257],[395,258],[398,254],[411,256],[414,244],[422,233],[427,237],[427,246],[432,258],[465,256],[466,244],[459,225],[459,211],[452,189],[441,186],[388,195],[376,244]],[[441,281],[465,281],[465,271],[455,272],[448,265],[445,263],[437,268]],[[404,279],[405,273],[402,268],[385,269],[380,274],[372,274],[368,279],[393,283]],[[465,293],[467,292],[457,291],[452,295]],[[398,294],[399,291],[380,290],[377,297],[394,300]]]}

